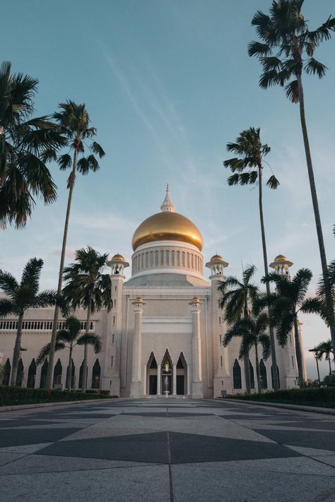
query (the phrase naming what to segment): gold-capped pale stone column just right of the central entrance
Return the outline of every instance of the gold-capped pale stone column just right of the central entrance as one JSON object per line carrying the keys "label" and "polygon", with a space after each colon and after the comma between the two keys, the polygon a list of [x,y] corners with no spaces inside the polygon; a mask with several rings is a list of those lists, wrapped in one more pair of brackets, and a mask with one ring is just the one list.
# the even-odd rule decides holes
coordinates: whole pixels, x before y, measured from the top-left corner
{"label": "gold-capped pale stone column just right of the central entrance", "polygon": [[192,306],[192,398],[203,398],[204,388],[201,376],[201,337],[200,337],[200,305],[199,298],[194,297],[189,303]]}

